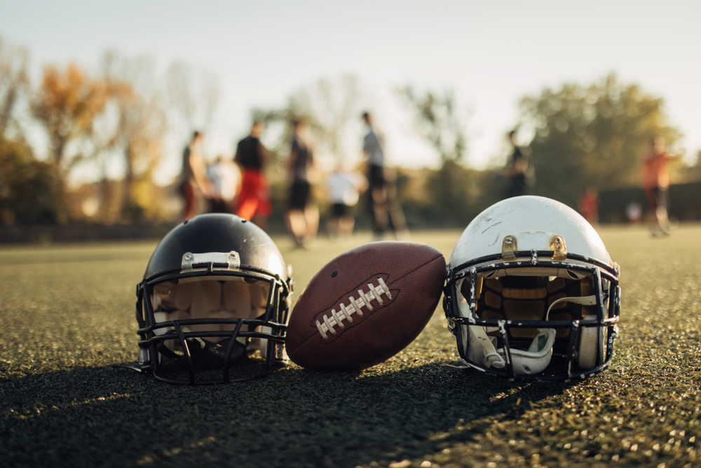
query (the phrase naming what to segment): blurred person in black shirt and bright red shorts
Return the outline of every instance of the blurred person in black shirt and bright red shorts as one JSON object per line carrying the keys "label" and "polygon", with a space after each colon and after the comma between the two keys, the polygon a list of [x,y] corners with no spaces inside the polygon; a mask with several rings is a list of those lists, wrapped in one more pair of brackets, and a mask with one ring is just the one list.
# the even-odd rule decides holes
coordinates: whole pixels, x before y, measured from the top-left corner
{"label": "blurred person in black shirt and bright red shorts", "polygon": [[236,214],[252,220],[265,229],[266,219],[271,213],[270,191],[264,170],[268,164],[268,150],[260,142],[265,130],[263,121],[255,120],[251,133],[238,142],[233,161],[241,170],[241,191],[236,201]]}

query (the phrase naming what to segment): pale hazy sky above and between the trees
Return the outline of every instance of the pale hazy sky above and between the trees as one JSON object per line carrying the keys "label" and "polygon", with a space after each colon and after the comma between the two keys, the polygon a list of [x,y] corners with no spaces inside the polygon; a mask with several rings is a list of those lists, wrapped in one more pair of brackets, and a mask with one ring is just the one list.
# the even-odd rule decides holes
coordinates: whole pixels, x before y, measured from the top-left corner
{"label": "pale hazy sky above and between the trees", "polygon": [[[74,60],[97,72],[108,49],[217,76],[219,106],[205,146],[212,157],[233,152],[249,130],[250,109],[283,106],[320,79],[338,83],[352,74],[358,109],[375,114],[388,159],[415,168],[439,158],[416,132],[397,88],[452,91],[469,137],[465,161],[484,168],[505,161],[504,135],[519,121],[525,95],[611,73],[664,98],[693,161],[701,151],[699,18],[701,2],[693,0],[0,0],[0,35],[29,49],[34,83],[48,63]],[[349,159],[360,157],[360,119],[353,125],[357,138],[344,146]],[[45,143],[34,134],[41,153]],[[179,171],[186,138],[171,135],[163,182]]]}

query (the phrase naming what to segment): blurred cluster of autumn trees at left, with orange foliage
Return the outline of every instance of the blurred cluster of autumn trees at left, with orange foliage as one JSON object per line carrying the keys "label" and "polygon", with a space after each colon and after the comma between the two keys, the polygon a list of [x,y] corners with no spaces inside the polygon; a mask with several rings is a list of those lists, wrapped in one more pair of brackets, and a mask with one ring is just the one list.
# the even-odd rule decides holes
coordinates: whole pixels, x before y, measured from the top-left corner
{"label": "blurred cluster of autumn trees at left, with orange foliage", "polygon": [[[154,171],[169,133],[186,138],[211,123],[214,76],[181,62],[159,75],[151,58],[108,51],[95,74],[74,62],[46,65],[34,84],[28,56],[0,37],[0,225],[168,218],[171,190]],[[95,182],[71,186],[86,168]]]}

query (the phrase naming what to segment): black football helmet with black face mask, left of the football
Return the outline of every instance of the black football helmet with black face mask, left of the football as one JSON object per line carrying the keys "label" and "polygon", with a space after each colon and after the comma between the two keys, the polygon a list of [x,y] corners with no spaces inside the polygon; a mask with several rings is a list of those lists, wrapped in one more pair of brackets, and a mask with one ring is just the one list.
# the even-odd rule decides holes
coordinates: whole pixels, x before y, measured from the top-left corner
{"label": "black football helmet with black face mask, left of the football", "polygon": [[292,278],[273,240],[234,215],[200,215],[158,244],[137,285],[139,368],[169,383],[263,377],[287,361]]}

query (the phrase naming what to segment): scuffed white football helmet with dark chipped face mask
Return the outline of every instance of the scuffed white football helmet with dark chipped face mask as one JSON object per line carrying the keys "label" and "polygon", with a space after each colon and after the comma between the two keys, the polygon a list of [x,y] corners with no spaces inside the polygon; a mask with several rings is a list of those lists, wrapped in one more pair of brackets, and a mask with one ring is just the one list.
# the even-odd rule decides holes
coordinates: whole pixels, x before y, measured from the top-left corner
{"label": "scuffed white football helmet with dark chipped face mask", "polygon": [[495,203],[450,255],[444,310],[467,366],[571,380],[611,363],[618,265],[569,206],[540,196]]}

